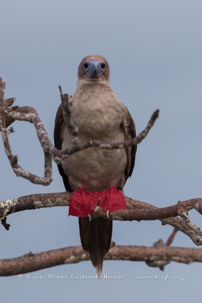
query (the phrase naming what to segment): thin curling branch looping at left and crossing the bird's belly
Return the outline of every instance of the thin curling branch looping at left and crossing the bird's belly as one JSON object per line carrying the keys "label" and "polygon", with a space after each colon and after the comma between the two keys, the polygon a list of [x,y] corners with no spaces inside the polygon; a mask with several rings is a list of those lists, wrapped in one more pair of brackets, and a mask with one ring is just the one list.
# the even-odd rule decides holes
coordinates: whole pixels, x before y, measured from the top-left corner
{"label": "thin curling branch looping at left and crossing the bird's belly", "polygon": [[[146,128],[135,138],[131,140],[126,140],[123,142],[116,142],[116,143],[109,143],[109,142],[102,142],[99,140],[89,140],[84,143],[79,143],[79,136],[78,136],[78,129],[73,124],[73,121],[71,119],[71,96],[68,94],[62,94],[61,91],[61,99],[64,107],[64,119],[67,123],[70,132],[72,134],[72,144],[69,149],[66,150],[59,150],[54,147],[51,140],[49,139],[47,132],[38,116],[38,113],[36,110],[32,107],[12,107],[8,108],[10,104],[12,104],[12,99],[14,101],[15,98],[10,98],[5,100],[4,103],[4,90],[5,90],[6,82],[2,78],[0,78],[0,130],[2,130],[2,137],[4,142],[5,151],[7,154],[7,157],[9,159],[9,162],[11,164],[11,167],[13,168],[15,174],[17,176],[21,176],[25,179],[28,179],[30,182],[34,184],[41,184],[41,185],[49,185],[52,181],[52,159],[57,163],[60,164],[60,162],[76,153],[76,151],[89,148],[89,147],[99,147],[99,148],[105,148],[105,149],[116,149],[116,148],[125,148],[128,146],[132,146],[134,144],[140,143],[148,134],[148,131],[150,128],[154,125],[156,119],[159,115],[159,110],[156,110],[154,114],[151,116],[149,122],[147,123]],[[9,101],[8,101],[9,100]],[[13,131],[13,129],[10,129],[9,131],[6,130],[6,128],[12,124],[15,120],[19,121],[27,121],[34,124],[34,127],[36,129],[36,133],[38,136],[38,140],[41,144],[41,147],[43,149],[44,153],[44,176],[39,177],[34,174],[31,174],[24,169],[22,169],[21,166],[18,165],[18,158],[17,156],[13,156],[10,144],[9,144],[9,133]]]}

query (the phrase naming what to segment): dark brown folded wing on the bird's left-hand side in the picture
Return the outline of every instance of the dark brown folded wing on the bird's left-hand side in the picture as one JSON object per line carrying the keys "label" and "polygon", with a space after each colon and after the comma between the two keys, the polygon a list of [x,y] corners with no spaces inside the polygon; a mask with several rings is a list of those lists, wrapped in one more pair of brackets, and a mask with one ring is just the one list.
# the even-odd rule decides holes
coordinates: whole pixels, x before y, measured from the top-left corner
{"label": "dark brown folded wing on the bird's left-hand side in the picture", "polygon": [[[64,129],[65,129],[65,122],[63,119],[63,106],[61,103],[56,114],[55,128],[54,128],[54,142],[55,142],[55,147],[58,149],[62,149]],[[68,191],[73,191],[70,187],[68,176],[65,174],[61,164],[58,164],[58,170],[63,178],[65,189]]]}

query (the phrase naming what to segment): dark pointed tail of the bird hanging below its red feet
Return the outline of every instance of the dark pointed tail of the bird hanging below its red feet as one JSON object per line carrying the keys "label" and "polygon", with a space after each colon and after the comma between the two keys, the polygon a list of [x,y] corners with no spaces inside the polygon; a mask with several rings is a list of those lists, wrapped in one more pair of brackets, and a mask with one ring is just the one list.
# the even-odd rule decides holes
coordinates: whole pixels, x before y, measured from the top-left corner
{"label": "dark pointed tail of the bird hanging below its red feet", "polygon": [[81,244],[95,267],[98,278],[102,274],[103,259],[110,249],[112,220],[79,218]]}

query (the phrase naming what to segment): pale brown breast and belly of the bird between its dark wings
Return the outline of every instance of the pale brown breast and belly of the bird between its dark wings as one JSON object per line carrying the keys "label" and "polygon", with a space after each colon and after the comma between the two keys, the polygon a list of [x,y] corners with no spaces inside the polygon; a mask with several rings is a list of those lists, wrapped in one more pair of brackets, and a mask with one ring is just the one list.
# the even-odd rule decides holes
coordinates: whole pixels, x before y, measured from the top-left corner
{"label": "pale brown breast and belly of the bird between its dark wings", "polygon": [[[88,91],[73,96],[71,115],[79,129],[79,141],[98,139],[105,142],[124,140],[121,123],[123,105],[114,92]],[[71,134],[64,131],[63,149],[68,148]],[[107,150],[90,147],[71,155],[62,162],[73,190],[83,186],[88,191],[101,191],[114,184],[124,185],[127,163],[125,149]]]}

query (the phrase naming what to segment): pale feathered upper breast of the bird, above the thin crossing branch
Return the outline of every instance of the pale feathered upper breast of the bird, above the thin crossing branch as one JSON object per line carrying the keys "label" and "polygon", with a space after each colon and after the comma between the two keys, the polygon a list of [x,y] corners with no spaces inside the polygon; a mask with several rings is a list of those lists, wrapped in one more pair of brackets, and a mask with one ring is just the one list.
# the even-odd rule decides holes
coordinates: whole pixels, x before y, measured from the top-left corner
{"label": "pale feathered upper breast of the bird, above the thin crossing branch", "polygon": [[78,126],[81,140],[107,139],[119,130],[123,121],[123,105],[114,91],[91,89],[73,96],[72,119]]}

